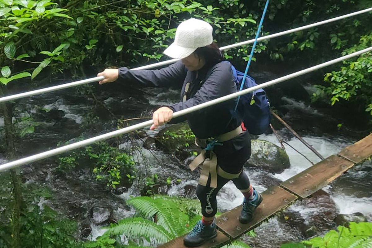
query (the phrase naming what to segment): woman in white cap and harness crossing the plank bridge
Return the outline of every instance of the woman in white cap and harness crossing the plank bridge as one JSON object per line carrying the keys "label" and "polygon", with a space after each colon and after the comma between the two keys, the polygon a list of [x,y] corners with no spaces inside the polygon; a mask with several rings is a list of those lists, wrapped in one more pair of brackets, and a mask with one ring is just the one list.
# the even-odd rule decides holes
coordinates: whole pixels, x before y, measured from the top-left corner
{"label": "woman in white cap and harness crossing the plank bridge", "polygon": [[[187,247],[196,247],[217,236],[214,216],[217,212],[216,195],[228,181],[244,195],[240,222],[251,220],[262,196],[251,186],[243,172],[250,158],[249,133],[243,131],[241,119],[234,113],[235,100],[208,107],[189,115],[172,119],[174,112],[216,99],[237,91],[231,64],[222,61],[218,46],[213,43],[212,26],[198,19],[182,22],[173,44],[164,54],[180,61],[160,70],[106,69],[100,84],[116,80],[140,83],[146,86],[181,88],[181,102],[163,106],[153,114],[151,130],[164,123],[187,120],[197,143],[205,148],[190,165],[193,170],[203,164],[196,194],[201,202],[202,220],[184,238]],[[212,137],[217,137],[212,141]]]}

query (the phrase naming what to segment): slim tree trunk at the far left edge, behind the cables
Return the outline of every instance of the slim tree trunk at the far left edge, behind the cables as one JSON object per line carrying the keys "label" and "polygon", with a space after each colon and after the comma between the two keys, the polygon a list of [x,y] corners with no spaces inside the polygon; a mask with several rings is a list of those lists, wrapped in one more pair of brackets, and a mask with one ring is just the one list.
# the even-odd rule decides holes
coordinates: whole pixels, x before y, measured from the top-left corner
{"label": "slim tree trunk at the far left edge, behind the cables", "polygon": [[[4,96],[6,88],[0,86],[0,96]],[[7,148],[7,158],[14,160],[15,146],[14,146],[14,132],[13,132],[13,106],[9,103],[2,103],[1,107],[4,113],[5,139]],[[22,191],[20,186],[19,175],[16,170],[10,170],[10,180],[13,186],[13,211],[12,211],[12,248],[20,248],[20,213],[23,202]]]}

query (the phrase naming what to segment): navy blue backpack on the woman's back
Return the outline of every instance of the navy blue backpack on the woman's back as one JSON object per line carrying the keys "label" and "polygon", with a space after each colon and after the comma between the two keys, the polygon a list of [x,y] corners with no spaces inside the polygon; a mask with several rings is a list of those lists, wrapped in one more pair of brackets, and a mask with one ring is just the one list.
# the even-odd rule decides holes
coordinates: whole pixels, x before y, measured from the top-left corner
{"label": "navy blue backpack on the woman's back", "polygon": [[[239,90],[243,82],[244,73],[237,71],[233,65],[231,65],[231,70],[237,89]],[[242,90],[256,85],[256,81],[247,75]],[[249,133],[259,135],[269,128],[271,119],[270,104],[263,89],[258,89],[240,96],[237,112],[243,119],[244,126]]]}

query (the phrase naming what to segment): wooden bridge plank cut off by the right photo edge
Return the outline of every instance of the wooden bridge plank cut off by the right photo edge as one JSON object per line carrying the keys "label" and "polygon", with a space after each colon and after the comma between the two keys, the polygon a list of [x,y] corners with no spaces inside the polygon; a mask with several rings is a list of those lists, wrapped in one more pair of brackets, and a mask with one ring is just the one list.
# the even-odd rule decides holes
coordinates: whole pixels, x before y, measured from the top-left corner
{"label": "wooden bridge plank cut off by the right photo edge", "polygon": [[339,155],[356,164],[370,157],[372,155],[372,133],[355,144],[342,149]]}

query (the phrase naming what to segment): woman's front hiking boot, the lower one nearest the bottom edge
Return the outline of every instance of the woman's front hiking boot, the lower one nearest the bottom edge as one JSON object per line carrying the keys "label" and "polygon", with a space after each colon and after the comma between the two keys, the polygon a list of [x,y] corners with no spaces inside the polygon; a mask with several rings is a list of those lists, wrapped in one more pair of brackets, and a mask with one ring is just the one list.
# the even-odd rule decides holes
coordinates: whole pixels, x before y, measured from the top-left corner
{"label": "woman's front hiking boot, the lower one nearest the bottom edge", "polygon": [[192,231],[183,238],[183,244],[186,247],[197,247],[215,237],[217,237],[217,230],[214,220],[209,226],[205,226],[202,221],[199,220]]}

